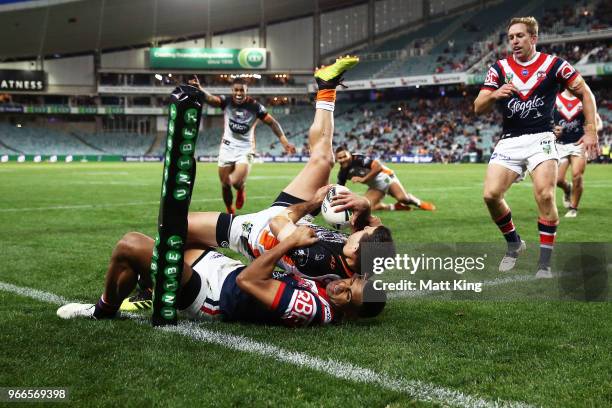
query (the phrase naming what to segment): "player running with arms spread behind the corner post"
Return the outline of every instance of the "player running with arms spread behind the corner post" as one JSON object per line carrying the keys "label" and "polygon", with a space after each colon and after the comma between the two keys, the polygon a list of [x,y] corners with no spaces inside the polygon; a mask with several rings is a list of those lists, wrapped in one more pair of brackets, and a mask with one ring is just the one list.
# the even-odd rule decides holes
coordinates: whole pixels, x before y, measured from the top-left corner
{"label": "player running with arms spread behind the corner post", "polygon": [[[242,208],[246,199],[245,183],[253,160],[257,120],[270,126],[287,153],[295,153],[295,146],[289,143],[280,124],[266,108],[247,95],[248,87],[243,79],[236,78],[233,81],[231,98],[207,92],[197,77],[189,83],[200,88],[207,104],[223,110],[223,136],[218,160],[219,179],[225,208],[228,214],[234,214],[235,209]],[[232,187],[236,189],[235,208]]]}

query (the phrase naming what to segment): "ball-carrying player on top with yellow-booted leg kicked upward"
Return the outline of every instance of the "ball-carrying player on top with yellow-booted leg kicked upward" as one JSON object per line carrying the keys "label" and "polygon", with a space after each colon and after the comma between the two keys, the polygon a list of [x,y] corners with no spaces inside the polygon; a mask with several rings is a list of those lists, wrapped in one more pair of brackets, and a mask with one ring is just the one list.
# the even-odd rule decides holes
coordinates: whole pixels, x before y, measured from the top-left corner
{"label": "ball-carrying player on top with yellow-booted leg kicked upward", "polygon": [[[338,204],[338,210],[353,210],[352,233],[349,236],[303,219],[318,211],[329,190],[325,186],[334,165],[332,136],[335,89],[341,81],[342,73],[357,62],[358,59],[354,57],[340,58],[315,73],[319,92],[315,117],[309,131],[311,155],[304,168],[283,189],[270,208],[239,216],[220,212],[190,213],[188,246],[230,248],[254,260],[277,246],[297,224],[307,224],[318,240],[306,248],[286,251],[286,256],[279,258],[278,266],[286,272],[320,278],[324,282],[351,278],[358,273],[362,244],[392,242],[389,229],[370,214],[368,200],[356,194],[345,193],[337,196],[334,201],[334,204]],[[392,248],[389,250],[392,251]],[[122,310],[151,307],[148,299],[151,298],[152,282],[142,279],[139,286],[145,289],[126,301]]]}

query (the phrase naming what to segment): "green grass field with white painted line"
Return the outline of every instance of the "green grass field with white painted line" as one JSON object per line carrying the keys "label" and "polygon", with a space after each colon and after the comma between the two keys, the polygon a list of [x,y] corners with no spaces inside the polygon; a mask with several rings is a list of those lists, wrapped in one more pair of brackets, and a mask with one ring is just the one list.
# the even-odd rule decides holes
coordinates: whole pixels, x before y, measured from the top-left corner
{"label": "green grass field with white painted line", "polygon": [[[255,165],[243,212],[299,168]],[[502,239],[481,199],[484,165],[395,170],[438,206],[380,214],[396,242]],[[155,232],[161,164],[2,164],[0,180],[0,387],[68,387],[76,406],[612,406],[609,302],[396,297],[373,321],[299,330],[62,321],[57,301],[19,288],[95,302],[115,242]],[[589,166],[557,242],[610,242],[611,190],[612,166]],[[507,198],[537,251],[530,183]],[[215,166],[200,165],[191,209],[222,208]]]}

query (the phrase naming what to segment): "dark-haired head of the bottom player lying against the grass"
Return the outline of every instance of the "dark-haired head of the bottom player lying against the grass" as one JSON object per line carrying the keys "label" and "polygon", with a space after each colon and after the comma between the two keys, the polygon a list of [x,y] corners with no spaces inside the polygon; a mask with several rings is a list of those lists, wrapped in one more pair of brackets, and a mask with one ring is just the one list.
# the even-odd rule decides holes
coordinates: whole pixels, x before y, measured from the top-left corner
{"label": "dark-haired head of the bottom player lying against the grass", "polygon": [[378,316],[387,302],[383,290],[377,290],[372,281],[358,274],[331,281],[325,291],[334,309],[348,318]]}

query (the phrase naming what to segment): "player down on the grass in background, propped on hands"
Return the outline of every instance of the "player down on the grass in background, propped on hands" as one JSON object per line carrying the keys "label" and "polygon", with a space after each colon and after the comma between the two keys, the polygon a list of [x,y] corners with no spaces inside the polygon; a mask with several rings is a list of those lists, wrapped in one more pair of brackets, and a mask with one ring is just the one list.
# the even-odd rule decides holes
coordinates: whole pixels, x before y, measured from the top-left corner
{"label": "player down on the grass in background, propped on hands", "polygon": [[[436,206],[430,202],[422,201],[409,194],[402,186],[400,180],[390,168],[380,161],[364,156],[352,154],[344,146],[336,149],[336,161],[340,163],[338,184],[345,185],[347,180],[353,183],[362,183],[368,186],[365,197],[370,200],[372,210],[411,210],[416,206],[422,210],[434,211]],[[382,199],[389,194],[395,198],[395,204],[384,204]]]}

